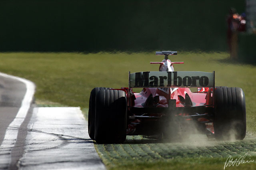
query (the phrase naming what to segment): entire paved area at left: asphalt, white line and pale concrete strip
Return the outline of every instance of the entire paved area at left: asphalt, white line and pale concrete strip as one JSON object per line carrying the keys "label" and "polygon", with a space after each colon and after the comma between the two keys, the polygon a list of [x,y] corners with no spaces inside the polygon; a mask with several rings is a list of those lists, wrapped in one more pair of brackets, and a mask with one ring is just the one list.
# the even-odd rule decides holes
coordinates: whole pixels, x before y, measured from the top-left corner
{"label": "entire paved area at left: asphalt, white line and pale concrete strip", "polygon": [[0,73],[0,169],[105,169],[79,107],[36,107],[31,81]]}

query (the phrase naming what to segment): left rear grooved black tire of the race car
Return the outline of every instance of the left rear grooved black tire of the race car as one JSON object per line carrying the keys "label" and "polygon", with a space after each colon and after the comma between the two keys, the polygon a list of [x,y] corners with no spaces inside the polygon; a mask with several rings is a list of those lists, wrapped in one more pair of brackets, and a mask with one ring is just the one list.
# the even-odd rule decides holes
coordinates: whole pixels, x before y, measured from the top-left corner
{"label": "left rear grooved black tire of the race car", "polygon": [[97,143],[123,143],[126,140],[127,99],[121,90],[100,90],[95,103]]}

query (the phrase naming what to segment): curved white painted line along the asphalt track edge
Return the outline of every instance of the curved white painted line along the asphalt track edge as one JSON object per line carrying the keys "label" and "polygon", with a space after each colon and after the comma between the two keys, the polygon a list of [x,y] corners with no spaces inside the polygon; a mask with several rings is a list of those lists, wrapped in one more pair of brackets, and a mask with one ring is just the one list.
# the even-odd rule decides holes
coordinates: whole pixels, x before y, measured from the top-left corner
{"label": "curved white painted line along the asphalt track edge", "polygon": [[12,151],[12,148],[15,146],[18,136],[18,129],[20,128],[20,125],[23,123],[28,113],[28,110],[30,109],[36,86],[34,85],[34,83],[32,83],[32,81],[20,77],[8,75],[5,73],[0,73],[0,76],[21,81],[26,85],[26,94],[24,95],[20,109],[12,123],[10,123],[10,125],[8,126],[8,129],[6,130],[4,136],[4,140],[0,146],[0,162],[5,162],[9,164],[11,161],[10,153]]}

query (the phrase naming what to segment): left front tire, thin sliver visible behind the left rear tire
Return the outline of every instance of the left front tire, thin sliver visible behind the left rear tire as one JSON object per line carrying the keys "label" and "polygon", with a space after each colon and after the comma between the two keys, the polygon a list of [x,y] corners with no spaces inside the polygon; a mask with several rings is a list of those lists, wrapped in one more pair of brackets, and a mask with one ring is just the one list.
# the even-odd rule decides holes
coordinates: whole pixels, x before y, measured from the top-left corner
{"label": "left front tire, thin sliver visible behind the left rear tire", "polygon": [[92,140],[94,140],[94,122],[95,122],[95,99],[96,94],[100,90],[110,89],[107,87],[95,87],[92,89],[90,94],[90,101],[89,101],[89,111],[88,111],[88,134]]}

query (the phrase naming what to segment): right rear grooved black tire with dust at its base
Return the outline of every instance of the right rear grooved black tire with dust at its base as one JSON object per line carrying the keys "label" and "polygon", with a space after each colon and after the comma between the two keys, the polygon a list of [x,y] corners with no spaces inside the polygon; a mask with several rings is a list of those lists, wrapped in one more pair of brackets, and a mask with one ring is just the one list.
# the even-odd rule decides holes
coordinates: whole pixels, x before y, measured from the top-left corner
{"label": "right rear grooved black tire with dust at its base", "polygon": [[214,136],[218,140],[243,140],[246,135],[244,92],[239,87],[215,90]]}

